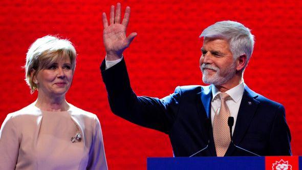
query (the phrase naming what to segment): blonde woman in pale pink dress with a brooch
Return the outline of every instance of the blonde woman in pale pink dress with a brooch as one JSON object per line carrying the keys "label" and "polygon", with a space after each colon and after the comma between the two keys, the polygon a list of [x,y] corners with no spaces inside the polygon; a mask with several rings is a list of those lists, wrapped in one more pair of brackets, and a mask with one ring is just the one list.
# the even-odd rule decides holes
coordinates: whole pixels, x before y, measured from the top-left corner
{"label": "blonde woman in pale pink dress with a brooch", "polygon": [[0,169],[107,169],[97,116],[65,99],[76,55],[70,41],[54,36],[31,45],[26,82],[38,97],[4,120]]}

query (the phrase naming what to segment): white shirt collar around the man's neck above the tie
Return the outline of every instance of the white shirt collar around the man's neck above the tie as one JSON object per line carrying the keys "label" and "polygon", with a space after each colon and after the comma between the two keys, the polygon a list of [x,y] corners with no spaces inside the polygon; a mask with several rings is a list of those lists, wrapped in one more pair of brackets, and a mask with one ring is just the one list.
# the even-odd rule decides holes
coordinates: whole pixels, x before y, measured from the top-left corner
{"label": "white shirt collar around the man's neck above the tie", "polygon": [[[233,87],[232,89],[226,91],[225,93],[227,93],[228,95],[230,95],[230,97],[235,101],[238,102],[239,99],[243,96],[243,92],[244,92],[244,81],[242,80],[240,84],[238,84],[237,86]],[[216,99],[215,97],[221,93],[215,86],[214,84],[212,84],[212,101],[214,101],[214,99]]]}

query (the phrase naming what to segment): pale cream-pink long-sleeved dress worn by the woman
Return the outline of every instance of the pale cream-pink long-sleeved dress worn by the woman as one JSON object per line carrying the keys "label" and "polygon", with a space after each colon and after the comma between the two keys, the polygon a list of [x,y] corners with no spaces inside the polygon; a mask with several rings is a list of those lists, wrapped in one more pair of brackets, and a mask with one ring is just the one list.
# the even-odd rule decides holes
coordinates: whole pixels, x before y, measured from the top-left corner
{"label": "pale cream-pink long-sleeved dress worn by the woman", "polygon": [[[96,115],[70,105],[41,111],[32,103],[10,113],[0,130],[0,169],[107,169]],[[71,141],[77,133],[81,140]]]}

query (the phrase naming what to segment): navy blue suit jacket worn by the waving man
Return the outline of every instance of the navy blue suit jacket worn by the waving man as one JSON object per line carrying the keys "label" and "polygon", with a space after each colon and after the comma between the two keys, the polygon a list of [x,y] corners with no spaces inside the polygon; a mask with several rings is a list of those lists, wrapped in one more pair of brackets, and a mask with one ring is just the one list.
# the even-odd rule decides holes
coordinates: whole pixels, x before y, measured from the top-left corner
{"label": "navy blue suit jacket worn by the waving man", "polygon": [[[124,59],[110,69],[101,65],[111,110],[146,128],[169,135],[175,156],[217,156],[210,119],[210,86],[177,87],[162,99],[136,96],[130,86]],[[209,132],[207,132],[209,131]],[[233,132],[234,144],[261,156],[291,155],[290,131],[283,105],[245,87]],[[225,156],[251,156],[230,144]]]}

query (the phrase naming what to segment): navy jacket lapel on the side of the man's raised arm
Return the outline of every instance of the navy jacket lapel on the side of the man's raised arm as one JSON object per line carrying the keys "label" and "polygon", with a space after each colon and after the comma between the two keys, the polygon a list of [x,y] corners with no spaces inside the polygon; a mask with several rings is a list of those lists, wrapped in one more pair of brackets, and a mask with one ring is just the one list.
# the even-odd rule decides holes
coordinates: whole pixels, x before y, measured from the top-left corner
{"label": "navy jacket lapel on the side of the man's raised arm", "polygon": [[[212,88],[211,86],[203,87],[203,91],[197,94],[197,108],[198,112],[200,114],[201,122],[204,122],[205,119],[211,120],[211,100],[212,100]],[[202,103],[202,105],[201,105]],[[203,106],[203,107],[202,107]],[[206,113],[206,114],[203,114]],[[211,122],[211,121],[210,121]],[[212,132],[212,125],[210,124],[209,131],[206,132],[206,127],[204,126],[204,123],[201,123],[201,129],[204,135],[204,138],[206,140],[210,140],[208,148],[210,151],[211,156],[216,156],[215,151],[215,145],[214,145],[214,139],[213,139],[213,132]],[[205,141],[207,142],[207,141]]]}

